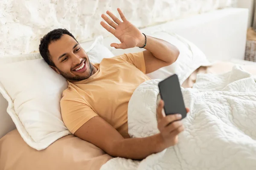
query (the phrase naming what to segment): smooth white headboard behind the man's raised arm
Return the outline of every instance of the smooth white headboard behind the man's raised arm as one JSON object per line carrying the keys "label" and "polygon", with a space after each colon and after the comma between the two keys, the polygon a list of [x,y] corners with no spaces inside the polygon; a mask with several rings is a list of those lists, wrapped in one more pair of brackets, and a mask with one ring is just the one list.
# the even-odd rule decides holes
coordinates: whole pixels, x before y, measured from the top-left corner
{"label": "smooth white headboard behind the man's raised arm", "polygon": [[[244,59],[248,10],[225,8],[205,14],[141,29],[145,34],[157,31],[176,33],[197,45],[210,60]],[[105,45],[119,42],[115,37],[105,38]],[[139,48],[115,49],[113,54],[137,52]]]}

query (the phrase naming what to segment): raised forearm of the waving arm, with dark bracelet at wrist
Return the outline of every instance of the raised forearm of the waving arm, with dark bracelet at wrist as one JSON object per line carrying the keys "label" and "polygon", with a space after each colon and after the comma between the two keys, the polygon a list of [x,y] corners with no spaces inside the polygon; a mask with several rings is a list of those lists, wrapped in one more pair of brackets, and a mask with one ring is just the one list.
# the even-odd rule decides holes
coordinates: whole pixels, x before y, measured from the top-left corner
{"label": "raised forearm of the waving arm, with dark bracelet at wrist", "polygon": [[[144,48],[150,51],[154,55],[154,57],[170,64],[176,61],[176,59],[180,54],[180,51],[178,50],[177,47],[175,47],[169,42],[166,42],[165,40],[150,37],[148,35],[146,36],[147,36],[147,43]],[[145,37],[143,40],[145,42]]]}

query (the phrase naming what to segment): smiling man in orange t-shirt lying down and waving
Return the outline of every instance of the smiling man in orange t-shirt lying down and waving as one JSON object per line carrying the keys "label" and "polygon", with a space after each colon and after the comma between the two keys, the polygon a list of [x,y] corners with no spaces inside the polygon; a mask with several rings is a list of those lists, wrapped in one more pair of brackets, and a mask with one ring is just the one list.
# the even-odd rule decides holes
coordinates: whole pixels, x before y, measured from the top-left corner
{"label": "smiling man in orange t-shirt lying down and waving", "polygon": [[137,86],[149,79],[145,74],[171,65],[179,51],[169,42],[142,34],[126,20],[119,8],[117,10],[122,22],[107,11],[114,22],[102,14],[109,25],[100,23],[121,42],[111,46],[144,47],[145,51],[92,64],[73,35],[64,29],[45,35],[39,50],[50,67],[68,81],[61,99],[61,116],[70,132],[111,156],[144,159],[177,144],[177,135],[184,130],[181,116],[165,116],[161,101],[157,107],[160,133],[131,139],[127,123],[128,102]]}

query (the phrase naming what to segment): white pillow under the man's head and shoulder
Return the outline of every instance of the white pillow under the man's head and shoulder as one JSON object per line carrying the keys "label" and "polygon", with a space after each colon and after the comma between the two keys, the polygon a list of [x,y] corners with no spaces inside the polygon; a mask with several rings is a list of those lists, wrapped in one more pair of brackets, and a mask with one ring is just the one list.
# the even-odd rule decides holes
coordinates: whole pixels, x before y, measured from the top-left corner
{"label": "white pillow under the man's head and shoulder", "polygon": [[[98,37],[86,50],[94,62],[113,57],[102,43],[103,38]],[[0,74],[0,93],[8,101],[7,112],[24,141],[36,150],[43,150],[70,134],[62,122],[59,105],[67,81],[40,58],[40,54],[0,58],[0,72],[4,73]],[[3,114],[6,113],[0,113],[0,124],[5,124]]]}

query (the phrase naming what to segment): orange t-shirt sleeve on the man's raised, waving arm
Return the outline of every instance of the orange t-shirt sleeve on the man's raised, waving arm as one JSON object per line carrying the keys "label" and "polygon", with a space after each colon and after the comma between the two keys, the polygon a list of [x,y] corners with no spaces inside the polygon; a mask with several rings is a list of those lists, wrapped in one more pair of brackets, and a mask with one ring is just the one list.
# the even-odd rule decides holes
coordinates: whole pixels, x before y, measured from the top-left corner
{"label": "orange t-shirt sleeve on the man's raised, waving arm", "polygon": [[135,67],[137,67],[144,74],[146,73],[143,51],[138,52],[138,53],[122,54],[122,55],[116,56],[114,58],[122,60],[123,62],[128,62],[131,65],[134,65]]}

